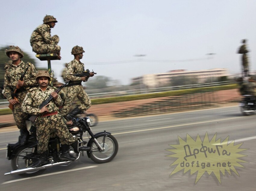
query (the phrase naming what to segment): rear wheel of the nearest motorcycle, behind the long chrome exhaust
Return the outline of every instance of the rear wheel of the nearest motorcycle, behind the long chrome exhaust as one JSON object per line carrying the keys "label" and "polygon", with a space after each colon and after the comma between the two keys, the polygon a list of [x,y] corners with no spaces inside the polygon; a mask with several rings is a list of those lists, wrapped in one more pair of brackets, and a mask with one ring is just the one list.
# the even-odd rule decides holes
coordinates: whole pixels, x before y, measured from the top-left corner
{"label": "rear wheel of the nearest motorcycle, behind the long chrome exhaust", "polygon": [[[34,151],[36,148],[27,148],[22,147],[17,150],[17,152],[14,153],[15,157],[11,160],[11,167],[13,170],[17,169],[24,169],[29,167],[32,163],[36,162],[37,159],[34,156]],[[44,172],[45,169],[42,170],[35,170],[32,172],[26,172],[23,174],[19,174],[22,177],[31,177],[40,175],[42,172]]]}

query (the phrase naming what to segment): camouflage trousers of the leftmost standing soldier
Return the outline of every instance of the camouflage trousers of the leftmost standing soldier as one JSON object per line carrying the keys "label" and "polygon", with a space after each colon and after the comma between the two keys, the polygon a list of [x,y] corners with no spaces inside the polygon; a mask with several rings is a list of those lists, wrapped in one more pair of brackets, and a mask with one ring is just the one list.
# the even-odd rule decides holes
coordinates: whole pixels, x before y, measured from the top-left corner
{"label": "camouflage trousers of the leftmost standing soldier", "polygon": [[16,123],[18,129],[27,128],[26,119],[27,119],[28,115],[21,111],[20,103],[16,103],[13,106],[13,116],[14,116],[14,120],[15,120],[15,123]]}

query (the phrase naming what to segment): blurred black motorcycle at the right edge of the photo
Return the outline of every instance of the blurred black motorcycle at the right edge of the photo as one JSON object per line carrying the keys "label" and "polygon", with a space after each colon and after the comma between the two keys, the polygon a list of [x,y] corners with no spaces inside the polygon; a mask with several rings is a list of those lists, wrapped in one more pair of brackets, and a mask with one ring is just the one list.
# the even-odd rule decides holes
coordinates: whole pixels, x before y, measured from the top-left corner
{"label": "blurred black motorcycle at the right edge of the photo", "polygon": [[239,107],[243,115],[250,115],[256,112],[256,97],[253,95],[243,95]]}

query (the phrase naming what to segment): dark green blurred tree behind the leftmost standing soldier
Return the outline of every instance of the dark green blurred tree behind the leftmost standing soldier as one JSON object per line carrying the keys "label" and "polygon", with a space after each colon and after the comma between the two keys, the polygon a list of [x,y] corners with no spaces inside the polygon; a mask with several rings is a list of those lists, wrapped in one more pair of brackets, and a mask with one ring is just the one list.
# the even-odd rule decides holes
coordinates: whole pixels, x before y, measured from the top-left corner
{"label": "dark green blurred tree behind the leftmost standing soldier", "polygon": [[[5,50],[8,49],[9,46],[1,47],[0,48],[0,87],[2,88],[4,86],[4,80],[5,80],[5,64],[8,63],[8,61],[11,61],[10,58],[8,58],[5,54]],[[24,57],[21,59],[24,62],[31,62],[36,67],[36,59],[31,58],[26,52],[23,52]]]}

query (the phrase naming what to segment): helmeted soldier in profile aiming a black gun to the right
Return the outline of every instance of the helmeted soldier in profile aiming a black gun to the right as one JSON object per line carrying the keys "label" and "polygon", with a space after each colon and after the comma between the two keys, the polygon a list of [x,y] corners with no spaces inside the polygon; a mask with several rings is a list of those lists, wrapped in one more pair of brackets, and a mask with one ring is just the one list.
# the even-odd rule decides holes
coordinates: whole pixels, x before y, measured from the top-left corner
{"label": "helmeted soldier in profile aiming a black gun to the right", "polygon": [[[67,64],[65,77],[67,80],[70,80],[70,84],[67,87],[66,100],[61,114],[64,116],[67,115],[75,97],[81,102],[80,106],[77,106],[66,116],[67,120],[71,120],[75,115],[89,109],[92,104],[82,86],[82,81],[86,81],[86,77],[73,76],[73,74],[83,73],[84,71],[84,64],[80,61],[80,59],[83,58],[83,52],[85,52],[83,47],[74,46],[71,51],[71,54],[74,55],[74,59]],[[93,75],[93,73],[90,73],[90,76]]]}

